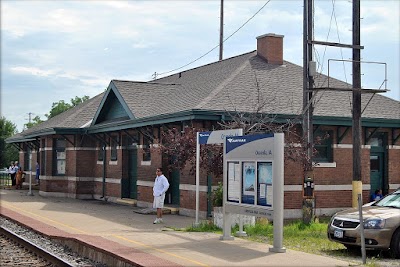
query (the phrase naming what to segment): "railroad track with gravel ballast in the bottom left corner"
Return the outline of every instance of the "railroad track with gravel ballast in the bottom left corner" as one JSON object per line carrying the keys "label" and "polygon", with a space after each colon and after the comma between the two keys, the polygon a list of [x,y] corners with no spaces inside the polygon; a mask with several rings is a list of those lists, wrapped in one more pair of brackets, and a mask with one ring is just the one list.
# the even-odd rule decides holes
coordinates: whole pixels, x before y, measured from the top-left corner
{"label": "railroad track with gravel ballast in the bottom left corner", "polygon": [[3,226],[0,227],[0,236],[1,266],[76,266]]}

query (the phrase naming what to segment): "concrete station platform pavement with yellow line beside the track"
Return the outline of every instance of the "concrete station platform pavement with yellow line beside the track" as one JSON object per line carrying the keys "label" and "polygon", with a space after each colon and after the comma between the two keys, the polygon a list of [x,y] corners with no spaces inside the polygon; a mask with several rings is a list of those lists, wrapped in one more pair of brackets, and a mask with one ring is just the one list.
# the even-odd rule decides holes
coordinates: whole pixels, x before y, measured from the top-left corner
{"label": "concrete station platform pavement with yellow line beside the track", "polygon": [[37,190],[0,189],[0,214],[48,236],[74,238],[136,266],[349,266],[343,260],[220,234],[183,232],[194,218],[165,214],[163,224],[140,208],[100,200],[43,197]]}

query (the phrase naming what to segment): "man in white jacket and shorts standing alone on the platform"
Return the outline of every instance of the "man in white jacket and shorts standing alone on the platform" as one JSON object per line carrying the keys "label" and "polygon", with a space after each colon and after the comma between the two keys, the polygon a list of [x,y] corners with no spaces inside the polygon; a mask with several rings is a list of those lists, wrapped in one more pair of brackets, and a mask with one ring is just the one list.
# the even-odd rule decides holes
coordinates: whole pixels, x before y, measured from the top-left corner
{"label": "man in white jacket and shorts standing alone on the platform", "polygon": [[165,192],[169,188],[169,183],[167,177],[162,174],[162,169],[157,168],[156,170],[156,180],[154,181],[153,187],[153,208],[157,209],[157,218],[153,222],[154,224],[162,223],[162,209],[164,208]]}

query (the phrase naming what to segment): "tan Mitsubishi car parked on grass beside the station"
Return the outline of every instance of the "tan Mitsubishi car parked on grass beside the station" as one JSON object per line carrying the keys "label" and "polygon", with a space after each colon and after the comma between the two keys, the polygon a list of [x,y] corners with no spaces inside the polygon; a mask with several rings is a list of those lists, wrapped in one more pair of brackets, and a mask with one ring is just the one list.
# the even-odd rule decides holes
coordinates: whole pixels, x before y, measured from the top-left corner
{"label": "tan Mitsubishi car parked on grass beside the station", "polygon": [[[389,250],[400,258],[400,188],[371,205],[362,207],[366,249]],[[358,209],[334,214],[328,238],[348,249],[361,246]]]}

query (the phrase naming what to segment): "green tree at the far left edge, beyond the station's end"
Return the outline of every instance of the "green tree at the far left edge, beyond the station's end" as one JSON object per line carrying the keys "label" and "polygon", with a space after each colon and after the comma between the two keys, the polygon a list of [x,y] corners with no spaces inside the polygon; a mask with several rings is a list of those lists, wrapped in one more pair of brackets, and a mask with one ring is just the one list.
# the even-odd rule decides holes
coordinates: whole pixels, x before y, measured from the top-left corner
{"label": "green tree at the far left edge, beyond the station's end", "polygon": [[6,144],[6,139],[17,133],[17,126],[5,117],[0,117],[0,167],[8,167],[11,161],[18,160],[18,149]]}

